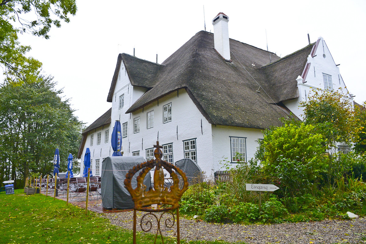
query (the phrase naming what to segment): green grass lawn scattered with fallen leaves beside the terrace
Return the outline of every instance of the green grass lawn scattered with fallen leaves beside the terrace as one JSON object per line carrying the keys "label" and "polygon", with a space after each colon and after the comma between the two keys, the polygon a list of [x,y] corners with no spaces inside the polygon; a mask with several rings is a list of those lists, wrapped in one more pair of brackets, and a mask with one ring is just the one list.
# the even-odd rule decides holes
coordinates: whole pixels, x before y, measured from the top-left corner
{"label": "green grass lawn scattered with fallen leaves beside the terrace", "polygon": [[[97,213],[53,200],[45,195],[25,195],[23,189],[14,195],[0,194],[0,243],[132,243],[132,231],[111,225],[108,219]],[[138,243],[153,243],[152,234],[137,234]],[[164,238],[164,243],[175,243],[176,239]],[[161,240],[157,239],[157,243]],[[184,241],[182,244],[219,244],[224,241]]]}

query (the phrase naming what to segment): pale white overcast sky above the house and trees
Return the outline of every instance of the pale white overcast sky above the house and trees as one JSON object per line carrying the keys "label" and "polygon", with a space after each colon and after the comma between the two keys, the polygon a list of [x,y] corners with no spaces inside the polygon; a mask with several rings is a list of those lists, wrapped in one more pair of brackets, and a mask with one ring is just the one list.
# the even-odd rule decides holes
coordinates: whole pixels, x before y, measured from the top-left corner
{"label": "pale white overcast sky above the house and trees", "polygon": [[[366,101],[366,1],[120,1],[77,0],[70,23],[45,40],[20,36],[29,56],[63,88],[79,120],[90,125],[109,108],[107,95],[119,53],[162,63],[212,19],[229,16],[229,37],[284,57],[323,37],[355,101]],[[203,12],[204,9],[204,12]]]}

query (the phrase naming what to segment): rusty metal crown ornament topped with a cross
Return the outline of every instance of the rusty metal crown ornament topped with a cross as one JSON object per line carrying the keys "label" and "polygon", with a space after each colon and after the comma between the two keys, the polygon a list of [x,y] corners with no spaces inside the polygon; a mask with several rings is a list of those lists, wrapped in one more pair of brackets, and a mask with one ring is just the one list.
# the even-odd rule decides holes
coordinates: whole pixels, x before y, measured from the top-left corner
{"label": "rusty metal crown ornament topped with a cross", "polygon": [[[158,141],[154,147],[156,148],[154,150],[154,156],[156,159],[134,166],[132,169],[128,170],[126,179],[124,180],[124,187],[128,192],[130,192],[132,200],[135,203],[134,210],[142,210],[142,207],[152,204],[167,204],[171,205],[171,207],[165,209],[144,209],[143,211],[162,212],[176,209],[179,206],[180,198],[188,189],[186,174],[178,167],[161,159],[163,153],[160,149],[163,147],[159,145]],[[150,187],[149,190],[146,191],[147,187],[143,184],[143,179],[154,167],[154,187]],[[167,170],[173,179],[173,184],[170,187],[164,187],[163,169]],[[132,177],[140,170],[141,172],[137,176],[137,187],[134,189],[132,188],[131,180]],[[180,180],[183,180],[183,184],[179,184]],[[183,185],[182,189],[179,188],[179,185]]]}

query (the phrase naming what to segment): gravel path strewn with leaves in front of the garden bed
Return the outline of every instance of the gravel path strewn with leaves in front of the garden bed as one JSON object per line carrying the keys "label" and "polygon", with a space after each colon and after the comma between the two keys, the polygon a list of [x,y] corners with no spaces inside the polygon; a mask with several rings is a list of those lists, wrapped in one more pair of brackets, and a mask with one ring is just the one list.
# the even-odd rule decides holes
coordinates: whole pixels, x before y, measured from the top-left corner
{"label": "gravel path strewn with leaves in front of the garden bed", "polygon": [[[137,212],[137,231],[141,231],[139,223],[143,214],[145,213]],[[104,217],[114,225],[132,229],[133,211],[108,213]],[[161,225],[164,236],[176,236],[176,225],[173,229],[163,227],[163,221]],[[156,232],[152,232],[154,233]],[[211,224],[180,218],[180,238],[187,241],[225,240],[230,243],[366,243],[366,218],[272,225]]]}

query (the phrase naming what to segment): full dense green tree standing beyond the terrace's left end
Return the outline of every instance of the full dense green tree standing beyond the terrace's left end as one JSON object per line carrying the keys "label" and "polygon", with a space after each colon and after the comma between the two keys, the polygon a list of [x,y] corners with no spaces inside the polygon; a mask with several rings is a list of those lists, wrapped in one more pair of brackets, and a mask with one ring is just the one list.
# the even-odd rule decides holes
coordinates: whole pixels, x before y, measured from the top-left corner
{"label": "full dense green tree standing beyond the terrace's left end", "polygon": [[25,179],[30,172],[53,171],[53,154],[60,149],[60,169],[66,170],[69,153],[76,154],[82,123],[73,115],[69,100],[48,76],[22,85],[0,87],[0,170],[1,177]]}

